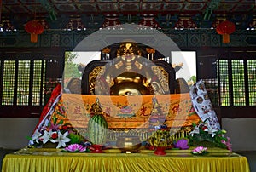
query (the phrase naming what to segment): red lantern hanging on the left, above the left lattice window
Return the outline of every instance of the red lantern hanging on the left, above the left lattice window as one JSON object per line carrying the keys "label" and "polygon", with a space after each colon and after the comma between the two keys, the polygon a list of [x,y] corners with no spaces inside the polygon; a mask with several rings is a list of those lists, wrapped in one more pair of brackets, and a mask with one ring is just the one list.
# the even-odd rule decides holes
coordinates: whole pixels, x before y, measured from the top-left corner
{"label": "red lantern hanging on the left, above the left lattice window", "polygon": [[30,40],[32,43],[38,42],[38,34],[44,32],[44,26],[41,25],[38,21],[32,20],[28,21],[25,25],[26,32],[30,33]]}

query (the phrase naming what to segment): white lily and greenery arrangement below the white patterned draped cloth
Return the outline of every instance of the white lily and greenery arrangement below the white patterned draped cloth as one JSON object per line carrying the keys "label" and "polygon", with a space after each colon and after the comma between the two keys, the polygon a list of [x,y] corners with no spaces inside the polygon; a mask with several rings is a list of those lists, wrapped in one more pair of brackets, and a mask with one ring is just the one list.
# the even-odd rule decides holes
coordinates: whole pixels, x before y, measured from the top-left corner
{"label": "white lily and greenery arrangement below the white patterned draped cloth", "polygon": [[213,129],[208,123],[200,123],[189,133],[189,145],[218,146],[232,151],[230,138],[225,137],[225,133],[224,129]]}

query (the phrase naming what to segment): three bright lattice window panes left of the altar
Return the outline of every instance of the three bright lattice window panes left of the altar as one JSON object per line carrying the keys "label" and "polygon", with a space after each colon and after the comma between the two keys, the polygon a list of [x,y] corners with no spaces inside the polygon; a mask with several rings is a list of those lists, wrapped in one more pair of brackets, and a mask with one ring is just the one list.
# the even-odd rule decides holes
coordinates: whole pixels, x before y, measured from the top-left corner
{"label": "three bright lattice window panes left of the altar", "polygon": [[2,60],[1,106],[43,106],[45,60]]}

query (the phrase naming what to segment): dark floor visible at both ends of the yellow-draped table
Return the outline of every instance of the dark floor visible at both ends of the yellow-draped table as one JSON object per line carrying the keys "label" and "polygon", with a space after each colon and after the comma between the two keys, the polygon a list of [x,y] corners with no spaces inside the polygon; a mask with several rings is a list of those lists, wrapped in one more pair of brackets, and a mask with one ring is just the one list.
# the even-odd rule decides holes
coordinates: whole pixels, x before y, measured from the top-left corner
{"label": "dark floor visible at both ends of the yellow-draped table", "polygon": [[[5,156],[5,154],[15,152],[16,150],[6,150],[0,148],[0,171],[2,171],[2,161]],[[256,172],[256,151],[253,152],[236,152],[238,154],[241,154],[242,156],[247,157],[247,161],[250,166],[251,172]],[[8,172],[8,171],[2,171],[2,172]],[[241,171],[242,172],[242,171]]]}

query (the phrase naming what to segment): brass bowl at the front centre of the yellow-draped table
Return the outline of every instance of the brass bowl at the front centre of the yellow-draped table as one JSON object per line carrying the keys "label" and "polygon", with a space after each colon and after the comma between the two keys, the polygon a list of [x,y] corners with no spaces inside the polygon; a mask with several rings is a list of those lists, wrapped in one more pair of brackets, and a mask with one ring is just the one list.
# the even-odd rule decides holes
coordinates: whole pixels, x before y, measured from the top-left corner
{"label": "brass bowl at the front centre of the yellow-draped table", "polygon": [[116,141],[116,146],[122,152],[137,152],[142,146],[142,142],[138,136],[119,136]]}

